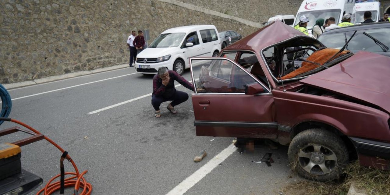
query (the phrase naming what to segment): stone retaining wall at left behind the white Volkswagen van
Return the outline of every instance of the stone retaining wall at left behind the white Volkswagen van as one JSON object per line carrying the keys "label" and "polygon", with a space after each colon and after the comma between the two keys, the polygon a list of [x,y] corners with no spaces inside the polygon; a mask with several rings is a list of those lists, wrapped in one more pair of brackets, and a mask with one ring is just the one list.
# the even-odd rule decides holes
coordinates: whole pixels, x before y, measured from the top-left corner
{"label": "stone retaining wall at left behind the white Volkswagen van", "polygon": [[149,29],[151,41],[185,25],[212,24],[243,36],[257,30],[157,0],[0,0],[0,14],[3,84],[127,64],[131,30]]}

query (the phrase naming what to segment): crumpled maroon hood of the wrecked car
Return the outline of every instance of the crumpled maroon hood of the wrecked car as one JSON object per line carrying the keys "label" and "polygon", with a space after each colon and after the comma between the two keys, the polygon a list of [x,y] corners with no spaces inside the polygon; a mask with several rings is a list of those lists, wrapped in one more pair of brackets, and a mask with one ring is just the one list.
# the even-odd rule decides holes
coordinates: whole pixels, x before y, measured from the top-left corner
{"label": "crumpled maroon hood of the wrecked car", "polygon": [[377,105],[390,113],[390,57],[360,51],[300,82]]}

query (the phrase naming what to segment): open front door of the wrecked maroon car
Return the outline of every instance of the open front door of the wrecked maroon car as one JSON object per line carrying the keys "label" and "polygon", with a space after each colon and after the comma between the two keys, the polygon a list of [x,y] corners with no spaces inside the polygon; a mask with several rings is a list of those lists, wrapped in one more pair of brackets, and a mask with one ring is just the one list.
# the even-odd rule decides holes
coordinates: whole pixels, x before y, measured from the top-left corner
{"label": "open front door of the wrecked maroon car", "polygon": [[273,96],[257,78],[227,58],[190,58],[190,66],[197,136],[277,137]]}

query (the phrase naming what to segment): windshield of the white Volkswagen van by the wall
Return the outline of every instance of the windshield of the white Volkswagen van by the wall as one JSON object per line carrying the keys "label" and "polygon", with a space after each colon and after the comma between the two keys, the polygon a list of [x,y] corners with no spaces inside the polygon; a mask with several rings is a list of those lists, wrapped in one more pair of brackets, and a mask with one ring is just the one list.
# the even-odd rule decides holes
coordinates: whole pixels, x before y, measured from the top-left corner
{"label": "windshield of the white Volkswagen van by the wall", "polygon": [[166,33],[160,34],[149,48],[172,48],[180,45],[185,33]]}

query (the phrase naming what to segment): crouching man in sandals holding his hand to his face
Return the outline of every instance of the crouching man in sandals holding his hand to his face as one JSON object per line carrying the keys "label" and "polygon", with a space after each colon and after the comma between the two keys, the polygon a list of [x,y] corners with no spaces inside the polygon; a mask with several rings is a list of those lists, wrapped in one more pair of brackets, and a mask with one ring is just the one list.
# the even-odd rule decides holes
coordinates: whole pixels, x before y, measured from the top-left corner
{"label": "crouching man in sandals holding his hand to his face", "polygon": [[195,91],[194,86],[175,71],[168,70],[167,67],[160,67],[153,77],[152,106],[156,112],[154,117],[161,117],[160,105],[165,101],[172,101],[167,109],[170,113],[176,114],[175,106],[188,99],[188,94],[175,89],[174,81],[179,82],[184,87]]}

